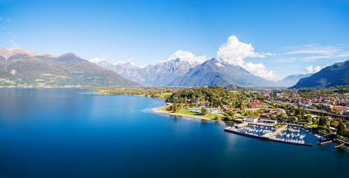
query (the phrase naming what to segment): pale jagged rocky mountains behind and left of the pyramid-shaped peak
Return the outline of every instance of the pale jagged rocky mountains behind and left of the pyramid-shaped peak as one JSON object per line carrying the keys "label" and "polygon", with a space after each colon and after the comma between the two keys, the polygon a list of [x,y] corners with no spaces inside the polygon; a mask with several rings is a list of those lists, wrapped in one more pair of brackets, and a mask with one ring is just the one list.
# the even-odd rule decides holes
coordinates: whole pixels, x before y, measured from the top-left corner
{"label": "pale jagged rocky mountains behind and left of the pyramid-shaped peak", "polygon": [[106,61],[101,61],[98,65],[113,70],[129,80],[140,82],[141,84],[166,85],[174,80],[174,78],[187,73],[190,68],[197,66],[198,63],[172,59],[156,65],[149,65],[145,68],[139,68],[132,64],[110,64]]}

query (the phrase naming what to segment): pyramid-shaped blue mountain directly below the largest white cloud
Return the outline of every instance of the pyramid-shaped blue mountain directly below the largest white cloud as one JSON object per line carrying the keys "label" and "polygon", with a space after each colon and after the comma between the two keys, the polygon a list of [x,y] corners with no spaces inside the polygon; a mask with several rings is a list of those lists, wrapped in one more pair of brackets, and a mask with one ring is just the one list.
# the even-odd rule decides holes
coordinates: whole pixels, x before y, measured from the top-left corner
{"label": "pyramid-shaped blue mountain directly below the largest white cloud", "polygon": [[191,68],[184,76],[170,82],[171,86],[207,86],[217,84],[228,86],[237,84],[244,87],[271,87],[274,82],[252,75],[244,68],[228,64],[219,59],[211,59]]}

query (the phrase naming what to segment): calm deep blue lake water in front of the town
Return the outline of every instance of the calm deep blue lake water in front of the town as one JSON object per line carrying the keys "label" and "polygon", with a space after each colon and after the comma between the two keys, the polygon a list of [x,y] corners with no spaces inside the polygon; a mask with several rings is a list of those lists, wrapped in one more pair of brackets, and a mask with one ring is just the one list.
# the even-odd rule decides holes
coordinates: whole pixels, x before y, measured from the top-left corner
{"label": "calm deep blue lake water in front of the town", "polygon": [[[0,89],[0,177],[345,177],[349,151],[154,114],[163,99]],[[315,138],[307,135],[308,142]]]}

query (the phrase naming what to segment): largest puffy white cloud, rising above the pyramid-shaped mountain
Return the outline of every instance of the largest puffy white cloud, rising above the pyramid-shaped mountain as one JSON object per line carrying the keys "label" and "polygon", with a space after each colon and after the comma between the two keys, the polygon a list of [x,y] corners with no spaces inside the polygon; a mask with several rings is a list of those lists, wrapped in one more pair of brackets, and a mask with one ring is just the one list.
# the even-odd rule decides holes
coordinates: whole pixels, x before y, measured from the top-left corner
{"label": "largest puffy white cloud, rising above the pyramid-shaped mountain", "polygon": [[277,80],[274,71],[268,71],[263,64],[253,64],[251,62],[244,61],[246,57],[263,58],[265,55],[270,56],[276,54],[270,52],[259,54],[258,52],[254,52],[251,43],[242,43],[239,41],[239,39],[237,39],[236,36],[229,36],[228,41],[223,43],[223,45],[221,45],[216,52],[217,59],[222,59],[229,64],[245,68],[246,71],[258,77],[263,77],[267,80]]}

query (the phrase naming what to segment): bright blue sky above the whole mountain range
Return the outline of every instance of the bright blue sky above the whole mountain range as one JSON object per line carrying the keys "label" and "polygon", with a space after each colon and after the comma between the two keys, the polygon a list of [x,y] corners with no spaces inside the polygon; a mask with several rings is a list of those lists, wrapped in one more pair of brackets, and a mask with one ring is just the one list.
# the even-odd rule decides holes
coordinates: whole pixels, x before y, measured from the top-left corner
{"label": "bright blue sky above the whole mountain range", "polygon": [[276,80],[349,59],[349,1],[2,0],[0,17],[0,47],[112,63],[210,59],[225,45],[220,57]]}

